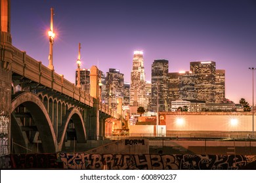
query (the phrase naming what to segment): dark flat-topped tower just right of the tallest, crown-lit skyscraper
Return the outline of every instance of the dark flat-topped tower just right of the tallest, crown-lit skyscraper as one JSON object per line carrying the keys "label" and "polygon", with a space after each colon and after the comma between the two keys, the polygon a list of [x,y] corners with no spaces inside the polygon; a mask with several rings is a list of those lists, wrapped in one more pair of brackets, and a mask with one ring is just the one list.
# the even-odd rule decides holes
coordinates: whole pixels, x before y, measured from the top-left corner
{"label": "dark flat-topped tower just right of the tallest, crown-lit skyscraper", "polygon": [[154,112],[168,111],[168,70],[166,59],[155,59],[151,66],[151,108]]}

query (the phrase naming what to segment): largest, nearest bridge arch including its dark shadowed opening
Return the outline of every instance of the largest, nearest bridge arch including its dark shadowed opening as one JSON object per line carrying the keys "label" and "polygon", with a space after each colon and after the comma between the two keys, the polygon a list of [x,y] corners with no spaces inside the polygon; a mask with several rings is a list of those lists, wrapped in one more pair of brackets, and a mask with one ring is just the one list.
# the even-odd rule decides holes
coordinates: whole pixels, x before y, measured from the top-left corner
{"label": "largest, nearest bridge arch including its dark shadowed opening", "polygon": [[56,152],[53,125],[39,97],[20,92],[13,98],[11,138],[14,152]]}

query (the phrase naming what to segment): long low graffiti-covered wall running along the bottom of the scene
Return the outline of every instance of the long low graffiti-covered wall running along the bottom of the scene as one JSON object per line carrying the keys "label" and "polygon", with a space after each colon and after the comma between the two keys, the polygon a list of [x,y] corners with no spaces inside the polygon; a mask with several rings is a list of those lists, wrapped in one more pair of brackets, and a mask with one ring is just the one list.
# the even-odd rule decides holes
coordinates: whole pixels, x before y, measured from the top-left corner
{"label": "long low graffiti-covered wall running along the bottom of the scene", "polygon": [[[2,159],[0,158],[0,161]],[[1,169],[237,170],[256,169],[256,156],[159,154],[16,154]]]}

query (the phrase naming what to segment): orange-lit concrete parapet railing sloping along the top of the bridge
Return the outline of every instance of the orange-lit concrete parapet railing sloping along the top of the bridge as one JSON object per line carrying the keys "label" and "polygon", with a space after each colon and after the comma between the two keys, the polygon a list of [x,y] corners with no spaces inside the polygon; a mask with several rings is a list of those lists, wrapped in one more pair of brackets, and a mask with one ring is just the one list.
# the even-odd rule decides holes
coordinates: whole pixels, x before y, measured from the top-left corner
{"label": "orange-lit concrete parapet railing sloping along the top of the bridge", "polygon": [[[18,75],[24,76],[33,82],[37,82],[47,88],[51,88],[56,92],[63,93],[93,107],[93,97],[81,90],[72,82],[66,80],[63,75],[58,75],[45,65],[41,61],[36,61],[26,54],[13,46],[14,54],[12,57],[12,71]],[[100,104],[102,112],[112,114],[106,104]],[[114,114],[116,115],[116,114]]]}

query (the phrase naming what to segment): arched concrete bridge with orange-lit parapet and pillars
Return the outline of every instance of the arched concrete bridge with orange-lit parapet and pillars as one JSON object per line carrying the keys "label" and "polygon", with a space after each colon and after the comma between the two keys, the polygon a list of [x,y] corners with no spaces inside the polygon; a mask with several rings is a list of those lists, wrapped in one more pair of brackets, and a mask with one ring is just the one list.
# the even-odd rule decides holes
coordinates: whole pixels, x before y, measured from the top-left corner
{"label": "arched concrete bridge with orange-lit parapet and pillars", "polygon": [[103,139],[105,120],[121,116],[100,102],[98,68],[85,93],[12,45],[11,3],[0,5],[0,155],[83,150]]}

